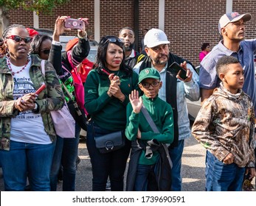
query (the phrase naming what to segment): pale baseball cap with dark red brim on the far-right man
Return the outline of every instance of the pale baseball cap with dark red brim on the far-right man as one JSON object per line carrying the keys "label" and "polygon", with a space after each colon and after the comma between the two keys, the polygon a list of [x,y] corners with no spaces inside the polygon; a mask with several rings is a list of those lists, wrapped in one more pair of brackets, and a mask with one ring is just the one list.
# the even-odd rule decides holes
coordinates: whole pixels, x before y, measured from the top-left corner
{"label": "pale baseball cap with dark red brim on the far-right man", "polygon": [[243,22],[250,21],[252,18],[252,15],[249,13],[239,14],[236,12],[226,13],[222,15],[220,18],[220,21],[218,21],[218,31],[221,34],[221,29],[225,27],[226,24],[229,24],[230,22],[239,21],[241,18],[243,19]]}

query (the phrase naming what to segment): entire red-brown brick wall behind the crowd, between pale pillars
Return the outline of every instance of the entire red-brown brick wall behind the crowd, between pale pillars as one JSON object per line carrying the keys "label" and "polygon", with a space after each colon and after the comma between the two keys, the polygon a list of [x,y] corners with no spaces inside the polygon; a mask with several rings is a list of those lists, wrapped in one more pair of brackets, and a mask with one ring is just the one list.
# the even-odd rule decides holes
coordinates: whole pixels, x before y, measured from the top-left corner
{"label": "entire red-brown brick wall behind the crowd, between pale pillars", "polygon": [[[100,0],[100,36],[118,35],[124,26],[133,28],[133,5],[134,2],[129,0]],[[233,0],[233,10],[252,14],[252,21],[246,25],[246,38],[255,38],[255,0]],[[198,65],[201,44],[209,42],[213,47],[218,43],[218,20],[225,12],[226,0],[165,0],[165,32],[170,40],[170,50]],[[159,0],[139,0],[139,43],[142,29],[158,28],[158,13]],[[54,29],[58,15],[89,18],[87,30],[94,31],[94,0],[71,0],[53,10],[52,15],[40,14],[40,27]],[[32,26],[32,17],[32,12],[10,10],[11,24]],[[68,35],[75,35],[75,32]]]}

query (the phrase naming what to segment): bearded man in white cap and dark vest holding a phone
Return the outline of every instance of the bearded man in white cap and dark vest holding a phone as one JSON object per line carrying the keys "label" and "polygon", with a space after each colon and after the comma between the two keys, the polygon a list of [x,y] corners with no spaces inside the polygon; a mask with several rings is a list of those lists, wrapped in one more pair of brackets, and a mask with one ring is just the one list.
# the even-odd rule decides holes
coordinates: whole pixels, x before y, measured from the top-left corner
{"label": "bearded man in white cap and dark vest holding a phone", "polygon": [[[134,66],[139,74],[145,68],[155,68],[162,79],[159,98],[173,107],[174,140],[169,146],[172,168],[172,191],[181,191],[181,156],[184,149],[184,139],[190,138],[190,120],[188,118],[186,98],[197,101],[200,98],[198,76],[193,65],[187,60],[169,51],[165,32],[160,29],[150,29],[144,38],[147,57]],[[181,79],[170,65],[178,63],[187,71],[187,78]],[[151,88],[153,85],[151,85]]]}

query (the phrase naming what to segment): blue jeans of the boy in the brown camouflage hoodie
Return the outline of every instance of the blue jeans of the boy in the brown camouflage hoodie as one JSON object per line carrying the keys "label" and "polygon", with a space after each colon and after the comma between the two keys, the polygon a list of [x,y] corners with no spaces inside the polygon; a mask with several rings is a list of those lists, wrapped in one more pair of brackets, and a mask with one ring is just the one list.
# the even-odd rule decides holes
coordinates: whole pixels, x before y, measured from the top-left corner
{"label": "blue jeans of the boy in the brown camouflage hoodie", "polygon": [[206,191],[242,191],[245,168],[235,163],[226,165],[207,151]]}

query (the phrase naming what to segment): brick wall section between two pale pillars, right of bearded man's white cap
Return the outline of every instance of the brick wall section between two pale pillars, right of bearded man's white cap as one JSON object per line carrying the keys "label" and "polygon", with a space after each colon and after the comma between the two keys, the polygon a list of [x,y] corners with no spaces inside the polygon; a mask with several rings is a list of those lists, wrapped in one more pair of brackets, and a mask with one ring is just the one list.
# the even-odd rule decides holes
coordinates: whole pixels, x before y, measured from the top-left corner
{"label": "brick wall section between two pale pillars, right of bearded man's white cap", "polygon": [[[214,8],[214,9],[213,9]],[[226,10],[226,1],[165,1],[165,32],[170,51],[199,64],[201,44],[218,43],[218,20]]]}

